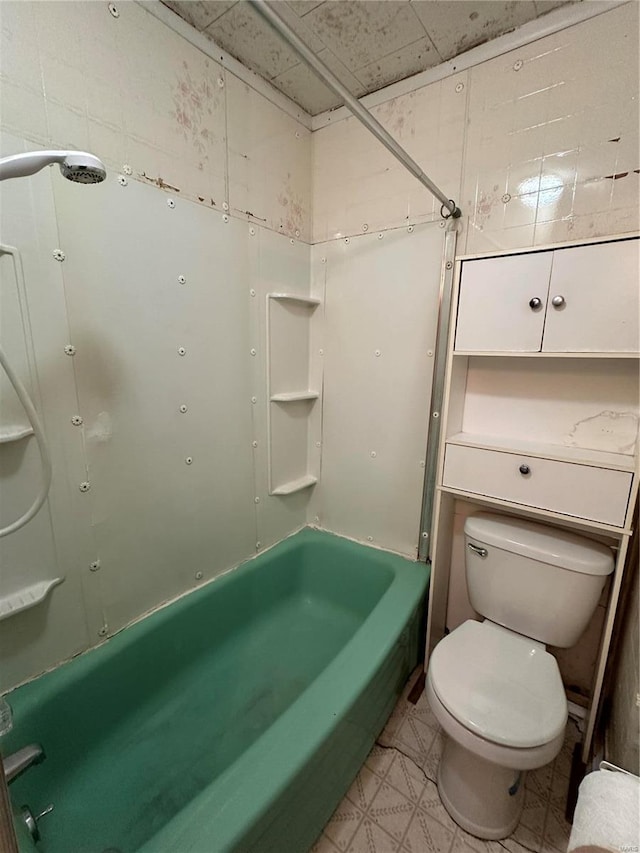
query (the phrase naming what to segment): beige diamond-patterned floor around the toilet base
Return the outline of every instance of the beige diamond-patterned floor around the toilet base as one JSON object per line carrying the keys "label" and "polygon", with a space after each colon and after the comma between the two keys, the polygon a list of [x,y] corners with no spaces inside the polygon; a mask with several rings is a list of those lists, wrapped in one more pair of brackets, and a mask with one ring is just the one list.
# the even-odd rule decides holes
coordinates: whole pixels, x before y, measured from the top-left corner
{"label": "beige diamond-patterned floor around the toilet base", "polygon": [[443,735],[425,694],[407,701],[409,679],[387,725],[311,853],[565,853],[571,826],[564,818],[573,746],[569,721],[552,764],[527,774],[525,805],[504,841],[481,841],[445,811],[435,784]]}

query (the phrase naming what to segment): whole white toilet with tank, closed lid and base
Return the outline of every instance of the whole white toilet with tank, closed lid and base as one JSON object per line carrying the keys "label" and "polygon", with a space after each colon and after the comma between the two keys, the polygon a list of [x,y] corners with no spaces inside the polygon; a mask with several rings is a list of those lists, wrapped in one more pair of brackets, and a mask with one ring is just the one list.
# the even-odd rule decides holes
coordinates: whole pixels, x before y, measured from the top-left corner
{"label": "whole white toilet with tank, closed lid and base", "polygon": [[520,820],[525,771],[564,739],[567,701],[545,644],[577,642],[614,563],[605,545],[508,516],[471,515],[464,532],[469,599],[485,619],[438,643],[426,691],[447,735],[440,798],[467,832],[499,839]]}

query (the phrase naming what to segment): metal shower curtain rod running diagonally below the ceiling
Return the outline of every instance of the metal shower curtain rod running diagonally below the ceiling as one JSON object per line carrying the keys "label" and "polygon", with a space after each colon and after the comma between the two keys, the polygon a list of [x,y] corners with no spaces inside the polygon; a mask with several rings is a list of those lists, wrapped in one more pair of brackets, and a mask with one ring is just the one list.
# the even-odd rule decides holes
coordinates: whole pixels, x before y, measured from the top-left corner
{"label": "metal shower curtain rod running diagonally below the ceiling", "polygon": [[[384,147],[402,163],[405,169],[408,169],[414,178],[417,178],[420,183],[438,199],[442,204],[440,213],[447,219],[450,216],[457,219],[460,216],[460,208],[456,205],[455,201],[446,197],[442,190],[440,190],[428,175],[422,171],[416,161],[407,154],[401,145],[398,145],[393,136],[391,136],[380,122],[371,115],[369,110],[363,107],[358,99],[354,98],[351,92],[342,85],[333,71],[331,71],[331,69],[328,68],[325,63],[307,47],[302,39],[294,33],[286,21],[284,21],[280,15],[271,8],[271,6],[268,6],[265,0],[248,0],[248,2],[253,6],[256,12],[282,36],[282,38],[295,50],[301,59],[303,59],[307,65],[315,71],[322,82],[328,86],[334,94],[342,99],[344,105],[351,110],[353,115],[362,122],[367,130],[371,131],[376,139],[378,139],[378,141],[381,142]],[[448,215],[444,213],[444,210],[449,211]]]}

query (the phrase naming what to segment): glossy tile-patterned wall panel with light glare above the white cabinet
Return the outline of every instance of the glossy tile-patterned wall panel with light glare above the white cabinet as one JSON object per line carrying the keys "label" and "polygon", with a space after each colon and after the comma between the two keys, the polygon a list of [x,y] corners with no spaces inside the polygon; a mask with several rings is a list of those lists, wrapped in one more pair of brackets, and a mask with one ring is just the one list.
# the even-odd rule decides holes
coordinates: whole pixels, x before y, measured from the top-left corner
{"label": "glossy tile-patterned wall panel with light glare above the white cabinet", "polygon": [[630,3],[471,71],[468,252],[638,229],[637,29]]}

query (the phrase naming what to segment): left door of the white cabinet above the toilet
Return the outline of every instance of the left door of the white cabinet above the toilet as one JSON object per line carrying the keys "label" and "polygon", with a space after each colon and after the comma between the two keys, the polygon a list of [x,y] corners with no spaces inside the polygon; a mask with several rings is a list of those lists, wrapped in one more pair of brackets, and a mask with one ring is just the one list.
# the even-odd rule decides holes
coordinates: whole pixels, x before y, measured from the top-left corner
{"label": "left door of the white cabinet above the toilet", "polygon": [[465,261],[456,350],[539,352],[552,252]]}

